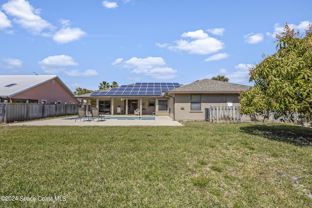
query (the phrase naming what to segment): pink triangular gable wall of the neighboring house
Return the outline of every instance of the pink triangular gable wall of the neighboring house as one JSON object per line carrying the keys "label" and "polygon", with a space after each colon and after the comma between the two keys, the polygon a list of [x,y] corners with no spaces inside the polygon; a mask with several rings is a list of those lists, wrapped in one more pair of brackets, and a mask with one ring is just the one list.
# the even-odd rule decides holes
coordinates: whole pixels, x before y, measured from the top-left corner
{"label": "pink triangular gable wall of the neighboring house", "polygon": [[45,83],[42,83],[32,89],[29,89],[25,92],[22,92],[18,95],[12,96],[13,99],[34,99],[38,100],[40,103],[41,100],[47,100],[47,103],[55,103],[61,101],[61,103],[70,101],[74,103],[79,103],[76,98],[73,97],[60,83],[58,79],[54,79],[55,83],[52,80],[49,80]]}

